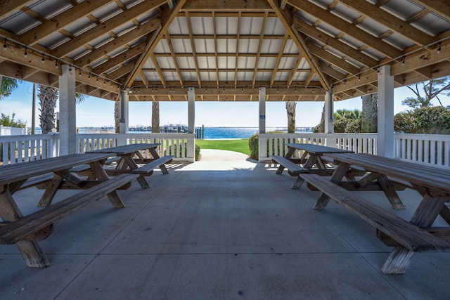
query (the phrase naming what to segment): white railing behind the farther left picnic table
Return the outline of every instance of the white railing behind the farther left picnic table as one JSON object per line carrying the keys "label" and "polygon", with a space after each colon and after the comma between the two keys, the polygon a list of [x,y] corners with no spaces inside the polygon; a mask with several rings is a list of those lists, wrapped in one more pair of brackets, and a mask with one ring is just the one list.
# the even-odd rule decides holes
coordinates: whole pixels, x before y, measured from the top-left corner
{"label": "white railing behind the farther left picnic table", "polygon": [[[93,133],[77,134],[77,152],[132,143],[159,143],[159,155],[174,155],[174,162],[195,162],[194,133]],[[144,153],[148,155],[148,153]]]}

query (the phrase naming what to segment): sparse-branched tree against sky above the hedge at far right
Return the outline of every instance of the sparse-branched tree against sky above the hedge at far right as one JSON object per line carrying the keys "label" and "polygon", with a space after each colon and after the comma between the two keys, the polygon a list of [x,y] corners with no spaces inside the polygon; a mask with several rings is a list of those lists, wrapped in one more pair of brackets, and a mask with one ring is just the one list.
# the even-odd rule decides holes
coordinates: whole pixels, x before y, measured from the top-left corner
{"label": "sparse-branched tree against sky above the hedge at far right", "polygon": [[[420,82],[418,84],[411,84],[408,89],[413,91],[416,98],[408,97],[401,102],[403,105],[409,107],[427,107],[431,105],[431,100],[436,98],[441,106],[442,102],[439,96],[450,96],[450,77],[442,77],[439,79],[431,79],[430,81]],[[424,95],[422,95],[422,93]]]}

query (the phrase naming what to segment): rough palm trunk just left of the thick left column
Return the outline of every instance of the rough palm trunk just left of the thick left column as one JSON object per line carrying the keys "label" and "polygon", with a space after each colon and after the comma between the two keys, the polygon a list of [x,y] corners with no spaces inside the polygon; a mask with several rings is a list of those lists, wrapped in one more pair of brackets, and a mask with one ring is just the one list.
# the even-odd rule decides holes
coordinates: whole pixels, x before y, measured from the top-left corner
{"label": "rough palm trunk just left of the thick left column", "polygon": [[46,134],[55,129],[55,108],[56,100],[58,100],[58,89],[39,84],[37,97],[41,106],[39,108],[41,111],[39,121],[42,133]]}

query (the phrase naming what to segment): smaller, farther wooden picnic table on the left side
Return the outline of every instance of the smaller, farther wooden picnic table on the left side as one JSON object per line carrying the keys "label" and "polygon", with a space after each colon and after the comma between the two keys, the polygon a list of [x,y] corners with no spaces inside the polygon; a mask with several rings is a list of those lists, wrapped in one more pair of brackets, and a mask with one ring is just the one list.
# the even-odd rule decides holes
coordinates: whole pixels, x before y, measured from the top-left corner
{"label": "smaller, farther wooden picnic table on the left side", "polygon": [[[117,157],[118,162],[114,169],[106,169],[106,173],[110,176],[117,176],[124,173],[139,174],[137,181],[142,188],[150,188],[144,176],[153,174],[153,169],[159,167],[162,174],[169,174],[165,164],[172,162],[173,155],[165,155],[160,157],[156,148],[159,143],[134,143],[129,145],[120,145],[112,148],[104,148],[100,150],[92,150],[86,153],[104,153],[110,154],[110,159]],[[142,152],[150,152],[151,157],[144,157]],[[141,164],[139,166],[138,164]]]}

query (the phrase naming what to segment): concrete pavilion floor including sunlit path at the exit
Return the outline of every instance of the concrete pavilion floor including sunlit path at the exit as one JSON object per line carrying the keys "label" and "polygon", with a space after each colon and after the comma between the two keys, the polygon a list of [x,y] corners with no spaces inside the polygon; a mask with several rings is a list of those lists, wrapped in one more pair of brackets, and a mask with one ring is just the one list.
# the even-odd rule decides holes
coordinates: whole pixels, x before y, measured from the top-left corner
{"label": "concrete pavilion floor including sunlit path at the exit", "polygon": [[[236,152],[202,150],[55,224],[39,242],[47,268],[0,245],[0,299],[449,299],[449,253],[419,253],[404,275],[383,275],[390,253],[375,229],[319,192]],[[73,191],[63,191],[63,198]],[[41,190],[16,193],[25,214]],[[380,192],[361,195],[390,206]],[[420,196],[399,192],[409,219]],[[442,222],[439,220],[438,222]]]}

